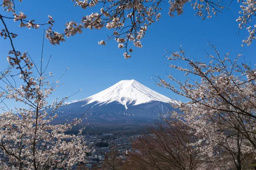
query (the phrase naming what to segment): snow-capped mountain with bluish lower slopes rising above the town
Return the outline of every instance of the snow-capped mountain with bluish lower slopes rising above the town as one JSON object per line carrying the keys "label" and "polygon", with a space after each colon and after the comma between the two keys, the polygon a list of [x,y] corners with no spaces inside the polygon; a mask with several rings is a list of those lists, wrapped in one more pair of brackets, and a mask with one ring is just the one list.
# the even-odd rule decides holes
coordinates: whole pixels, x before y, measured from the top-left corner
{"label": "snow-capped mountain with bluish lower slopes rising above the town", "polygon": [[172,109],[170,102],[174,101],[134,79],[122,80],[93,96],[61,106],[56,121],[63,122],[69,116],[80,118],[86,112],[91,125],[133,124],[166,114]]}

